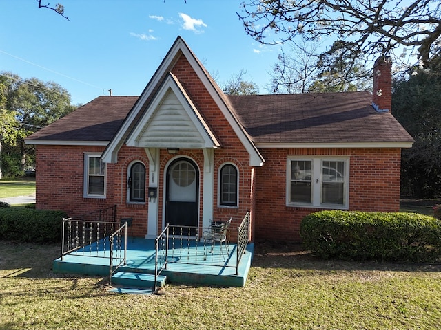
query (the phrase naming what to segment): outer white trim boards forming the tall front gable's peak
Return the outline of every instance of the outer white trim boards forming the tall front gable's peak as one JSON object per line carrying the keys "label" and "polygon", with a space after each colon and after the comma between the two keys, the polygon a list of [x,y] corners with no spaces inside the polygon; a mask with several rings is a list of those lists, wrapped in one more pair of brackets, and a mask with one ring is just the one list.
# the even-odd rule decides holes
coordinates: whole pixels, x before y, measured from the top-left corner
{"label": "outer white trim boards forming the tall front gable's peak", "polygon": [[[243,131],[240,124],[238,124],[238,121],[234,118],[231,111],[229,111],[225,102],[220,97],[218,91],[216,91],[216,88],[214,87],[214,84],[216,83],[208,78],[207,72],[205,72],[203,67],[198,62],[196,56],[194,56],[194,54],[189,50],[189,47],[183,41],[183,39],[181,39],[180,36],[178,36],[178,38],[170,48],[169,52],[167,52],[167,55],[163,59],[163,62],[154,73],[154,76],[147,84],[147,87],[145,87],[143,93],[139,97],[139,100],[136,101],[136,104],[134,105],[132,110],[130,110],[130,113],[127,115],[123,124],[116,132],[116,135],[103,152],[103,155],[101,156],[103,162],[116,163],[118,151],[127,139],[127,132],[132,131],[135,118],[138,116],[140,111],[143,111],[145,103],[152,95],[158,97],[156,95],[158,91],[155,91],[156,87],[158,86],[158,84],[161,83],[161,80],[163,80],[165,74],[170,74],[168,70],[170,69],[170,67],[172,67],[172,65],[176,62],[177,58],[181,54],[183,54],[183,56],[187,58],[187,61],[194,69],[194,72],[196,72],[204,87],[207,89],[207,91],[209,91],[210,96],[212,96],[220,111],[222,111],[223,115],[225,115],[227,122],[232,126],[232,129],[238,136],[240,142],[249,153],[249,165],[263,166],[265,159],[263,159],[262,155],[260,155],[258,149],[256,148],[256,146],[254,146],[253,142],[249,140],[245,131]],[[159,97],[161,97],[161,95]]]}

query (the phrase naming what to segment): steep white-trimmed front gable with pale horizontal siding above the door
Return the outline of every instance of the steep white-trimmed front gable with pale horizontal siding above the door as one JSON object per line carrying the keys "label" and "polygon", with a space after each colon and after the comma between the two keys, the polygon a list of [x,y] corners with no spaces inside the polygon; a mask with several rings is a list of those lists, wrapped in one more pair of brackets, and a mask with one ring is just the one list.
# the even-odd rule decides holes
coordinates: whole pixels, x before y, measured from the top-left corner
{"label": "steep white-trimmed front gable with pale horizontal siding above the door", "polygon": [[[163,59],[163,62],[156,70],[154,76],[145,87],[143,93],[134,104],[130,113],[128,113],[123,124],[121,124],[119,130],[114,135],[113,139],[105,148],[101,159],[105,163],[116,163],[118,159],[119,149],[123,144],[128,146],[145,146],[156,148],[176,148],[177,144],[182,144],[182,148],[193,148],[192,143],[196,145],[196,148],[218,148],[220,142],[216,138],[215,132],[209,129],[209,125],[203,120],[203,115],[198,111],[195,104],[191,100],[191,96],[187,95],[185,89],[179,84],[179,80],[174,76],[171,71],[176,62],[185,56],[189,65],[198,76],[209,95],[212,97],[218,110],[223,114],[227,124],[229,124],[240,143],[244,146],[245,150],[249,154],[250,166],[262,166],[265,160],[254,145],[254,142],[249,138],[243,126],[240,125],[237,118],[229,109],[227,105],[227,99],[223,95],[223,92],[216,85],[214,80],[209,77],[209,74],[198,61],[196,56],[189,50],[189,47],[185,44],[181,37],[178,37],[170,48],[169,52]],[[169,120],[168,122],[161,122],[161,116],[165,115],[168,111],[166,109],[165,99],[172,100],[173,96],[169,94],[173,92],[178,101],[174,111],[181,107],[181,113],[175,113],[178,115],[178,120],[187,120],[187,131],[181,132],[185,134],[185,139],[179,139],[175,134],[176,126],[173,126],[172,117],[165,116]],[[168,102],[167,101],[167,102]],[[179,105],[180,104],[180,105]],[[175,118],[176,119],[176,118]],[[189,120],[188,120],[189,119]],[[152,120],[161,122],[159,127],[153,126]],[[176,122],[175,122],[176,123]],[[155,129],[161,129],[161,132],[155,131]],[[183,129],[183,126],[181,126]],[[193,136],[191,136],[193,134]],[[192,138],[194,140],[192,140]],[[153,140],[150,140],[152,138]],[[163,139],[161,141],[161,139]],[[171,142],[172,144],[168,144]],[[174,144],[174,145],[173,145]]]}

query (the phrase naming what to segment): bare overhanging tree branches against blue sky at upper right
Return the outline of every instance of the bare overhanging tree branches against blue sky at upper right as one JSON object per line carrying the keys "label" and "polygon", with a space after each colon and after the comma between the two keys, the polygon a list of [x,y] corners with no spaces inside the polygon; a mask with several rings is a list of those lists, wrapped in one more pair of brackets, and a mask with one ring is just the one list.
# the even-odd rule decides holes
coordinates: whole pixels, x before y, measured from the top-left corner
{"label": "bare overhanging tree branches against blue sky at upper right", "polygon": [[424,67],[440,59],[439,1],[247,0],[243,12],[238,16],[245,32],[260,43],[292,41],[300,47],[299,40],[326,38],[345,40],[342,58],[373,60],[404,46],[416,51]]}

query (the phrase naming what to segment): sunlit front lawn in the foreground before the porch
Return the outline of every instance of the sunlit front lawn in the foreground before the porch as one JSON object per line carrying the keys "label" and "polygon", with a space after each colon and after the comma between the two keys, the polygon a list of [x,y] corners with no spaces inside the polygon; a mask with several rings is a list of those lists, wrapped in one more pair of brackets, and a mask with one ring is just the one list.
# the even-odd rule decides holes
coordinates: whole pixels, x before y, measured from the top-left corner
{"label": "sunlit front lawn in the foreground before the porch", "polygon": [[441,265],[319,261],[256,245],[243,288],[109,292],[52,274],[58,245],[0,241],[0,329],[440,329]]}

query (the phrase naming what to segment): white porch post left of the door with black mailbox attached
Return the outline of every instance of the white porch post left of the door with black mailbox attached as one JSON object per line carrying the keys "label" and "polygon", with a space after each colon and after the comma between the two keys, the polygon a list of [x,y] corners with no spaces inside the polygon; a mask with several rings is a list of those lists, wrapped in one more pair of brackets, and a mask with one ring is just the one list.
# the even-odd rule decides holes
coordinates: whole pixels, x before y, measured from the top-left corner
{"label": "white porch post left of the door with black mailbox attached", "polygon": [[[158,179],[159,179],[159,148],[144,148],[147,157],[149,158],[149,187],[155,187],[159,189]],[[159,194],[158,191],[156,191]],[[158,195],[157,195],[158,196]],[[148,214],[147,214],[147,234],[145,234],[146,239],[156,239],[158,234],[158,197],[150,198],[147,196],[148,200]]]}

